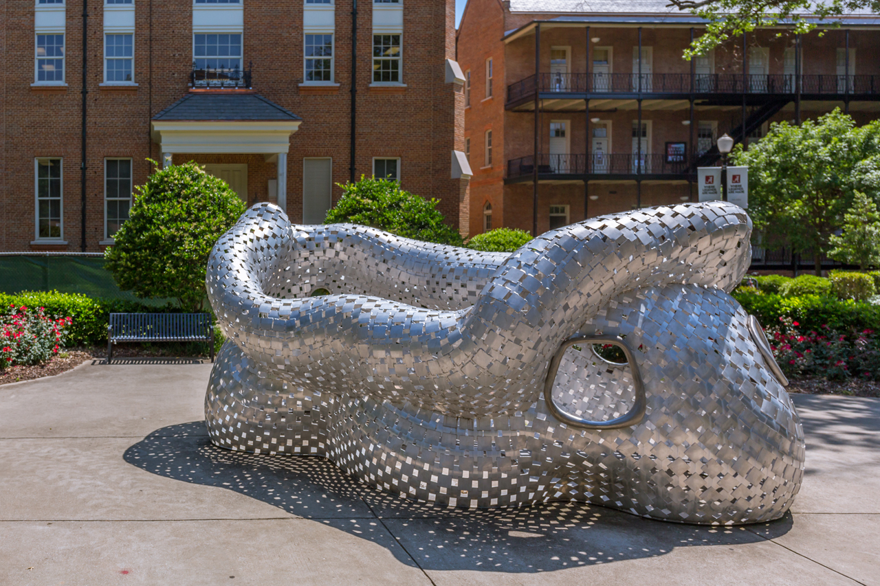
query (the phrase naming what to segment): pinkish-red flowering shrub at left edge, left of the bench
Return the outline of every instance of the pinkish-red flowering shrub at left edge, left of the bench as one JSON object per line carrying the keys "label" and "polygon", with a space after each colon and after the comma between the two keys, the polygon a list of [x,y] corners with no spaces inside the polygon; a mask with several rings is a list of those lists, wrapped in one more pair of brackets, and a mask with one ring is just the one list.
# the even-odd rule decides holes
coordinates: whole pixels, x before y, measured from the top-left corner
{"label": "pinkish-red flowering shrub at left edge, left of the bench", "polygon": [[48,318],[42,307],[29,310],[11,304],[0,316],[0,370],[46,362],[62,348],[71,323],[70,318]]}

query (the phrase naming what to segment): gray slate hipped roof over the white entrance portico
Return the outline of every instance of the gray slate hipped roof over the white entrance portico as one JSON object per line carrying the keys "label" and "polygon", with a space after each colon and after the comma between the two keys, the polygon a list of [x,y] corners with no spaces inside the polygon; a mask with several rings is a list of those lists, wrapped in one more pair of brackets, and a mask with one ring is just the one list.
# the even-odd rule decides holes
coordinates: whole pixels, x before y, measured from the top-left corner
{"label": "gray slate hipped roof over the white entrance portico", "polygon": [[302,120],[255,93],[190,93],[156,114],[153,120]]}

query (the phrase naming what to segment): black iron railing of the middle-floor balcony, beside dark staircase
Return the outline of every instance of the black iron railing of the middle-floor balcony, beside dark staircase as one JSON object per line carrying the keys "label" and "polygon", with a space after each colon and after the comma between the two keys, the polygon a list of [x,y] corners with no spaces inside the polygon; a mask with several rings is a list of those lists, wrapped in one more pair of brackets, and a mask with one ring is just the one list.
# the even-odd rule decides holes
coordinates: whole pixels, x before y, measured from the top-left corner
{"label": "black iron railing of the middle-floor balcony, beside dark staircase", "polygon": [[[534,173],[534,157],[519,157],[507,162],[508,179],[532,176]],[[667,161],[663,153],[635,154],[593,153],[586,155],[549,155],[538,156],[538,173],[561,177],[562,175],[606,174],[606,175],[681,175],[687,171],[688,161]]]}

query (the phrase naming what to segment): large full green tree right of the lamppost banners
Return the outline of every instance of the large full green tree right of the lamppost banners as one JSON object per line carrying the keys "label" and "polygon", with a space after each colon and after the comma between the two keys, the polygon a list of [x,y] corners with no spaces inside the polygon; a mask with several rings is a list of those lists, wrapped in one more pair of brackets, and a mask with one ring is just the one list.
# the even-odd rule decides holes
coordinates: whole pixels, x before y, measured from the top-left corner
{"label": "large full green tree right of the lamppost banners", "polygon": [[768,241],[784,241],[796,253],[822,253],[852,206],[856,187],[869,197],[872,165],[880,154],[880,121],[856,128],[835,109],[801,126],[774,123],[748,150],[737,145],[733,160],[749,167],[749,215]]}

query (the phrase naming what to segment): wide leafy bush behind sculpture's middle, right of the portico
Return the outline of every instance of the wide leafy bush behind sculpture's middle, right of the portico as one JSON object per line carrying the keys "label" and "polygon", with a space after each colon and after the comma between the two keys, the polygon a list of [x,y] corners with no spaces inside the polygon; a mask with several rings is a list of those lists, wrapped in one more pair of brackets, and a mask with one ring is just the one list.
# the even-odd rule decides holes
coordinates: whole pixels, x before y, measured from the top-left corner
{"label": "wide leafy bush behind sculpture's middle, right of the portico", "polygon": [[342,197],[324,223],[360,223],[403,238],[462,245],[461,234],[444,223],[438,200],[426,200],[400,189],[397,181],[364,179],[342,185]]}

